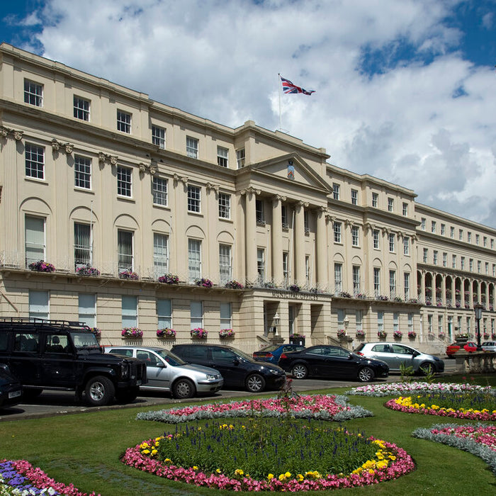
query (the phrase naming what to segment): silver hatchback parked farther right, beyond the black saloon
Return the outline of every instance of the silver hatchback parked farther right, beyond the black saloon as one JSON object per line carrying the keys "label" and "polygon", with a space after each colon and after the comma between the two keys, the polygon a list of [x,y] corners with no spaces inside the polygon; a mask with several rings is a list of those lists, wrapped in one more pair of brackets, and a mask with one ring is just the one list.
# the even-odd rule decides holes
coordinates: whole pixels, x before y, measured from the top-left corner
{"label": "silver hatchback parked farther right, beyond the black saloon", "polygon": [[444,361],[434,355],[422,353],[415,348],[400,343],[375,342],[361,343],[354,350],[356,354],[369,359],[388,363],[390,371],[400,371],[402,363],[412,367],[414,373],[437,373],[444,371]]}

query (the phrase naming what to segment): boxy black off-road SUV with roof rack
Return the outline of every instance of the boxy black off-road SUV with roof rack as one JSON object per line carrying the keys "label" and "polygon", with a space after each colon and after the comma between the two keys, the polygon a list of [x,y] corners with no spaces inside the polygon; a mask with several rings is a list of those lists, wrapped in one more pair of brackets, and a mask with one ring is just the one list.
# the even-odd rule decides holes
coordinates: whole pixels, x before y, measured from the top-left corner
{"label": "boxy black off-road SUV with roof rack", "polygon": [[104,354],[80,322],[0,318],[0,363],[21,381],[25,396],[74,390],[91,406],[135,400],[147,382],[144,361]]}

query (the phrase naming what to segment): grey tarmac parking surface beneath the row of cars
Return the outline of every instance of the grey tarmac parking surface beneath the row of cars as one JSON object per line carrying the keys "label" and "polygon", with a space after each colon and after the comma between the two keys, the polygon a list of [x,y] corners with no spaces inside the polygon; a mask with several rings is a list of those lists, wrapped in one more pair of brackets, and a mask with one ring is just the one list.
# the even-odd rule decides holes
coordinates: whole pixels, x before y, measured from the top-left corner
{"label": "grey tarmac parking surface beneath the row of cars", "polygon": [[[451,375],[455,370],[454,360],[445,360],[444,375]],[[388,378],[376,379],[373,383],[398,382],[400,381],[399,373],[391,373]],[[357,385],[363,385],[356,381],[339,381],[326,379],[293,379],[293,391],[303,393],[305,391],[329,389],[329,388],[354,388]],[[277,391],[266,391],[263,395],[275,395]],[[142,408],[147,410],[156,405],[164,407],[174,407],[188,402],[211,402],[212,400],[226,400],[236,398],[246,398],[249,395],[245,390],[220,390],[215,395],[201,396],[188,400],[176,400],[171,398],[170,393],[143,391],[143,395],[136,398],[135,401],[125,405],[111,404],[104,407],[89,407],[84,403],[78,402],[74,391],[52,391],[44,390],[43,393],[33,400],[22,402],[14,407],[4,410],[0,409],[0,422],[37,419],[43,417],[55,417],[59,415],[71,415],[74,413],[99,412],[105,410],[125,410],[128,408]]]}

